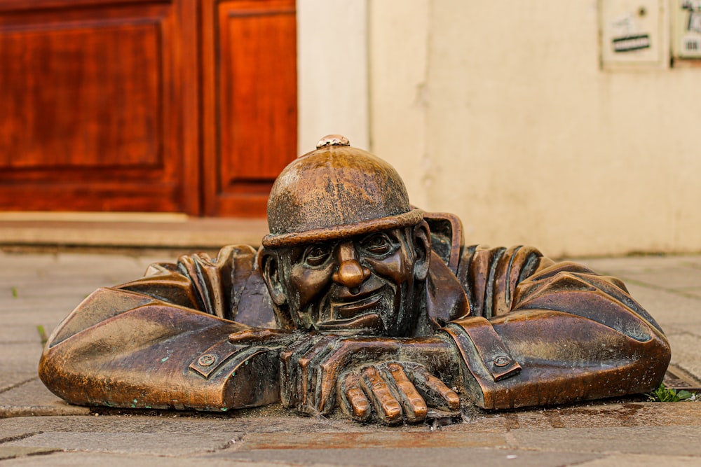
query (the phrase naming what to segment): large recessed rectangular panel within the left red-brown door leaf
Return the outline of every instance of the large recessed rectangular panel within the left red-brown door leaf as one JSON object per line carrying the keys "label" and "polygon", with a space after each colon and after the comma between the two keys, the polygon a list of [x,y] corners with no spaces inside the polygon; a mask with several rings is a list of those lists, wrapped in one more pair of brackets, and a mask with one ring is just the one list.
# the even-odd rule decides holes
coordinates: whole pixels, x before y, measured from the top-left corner
{"label": "large recessed rectangular panel within the left red-brown door leaf", "polygon": [[161,166],[157,22],[3,33],[0,164]]}

